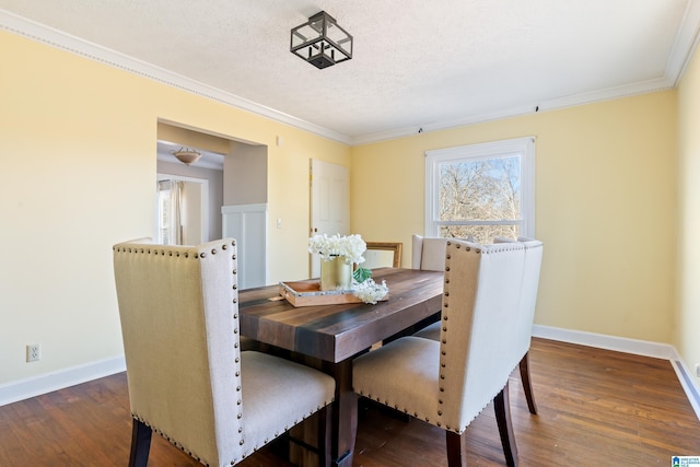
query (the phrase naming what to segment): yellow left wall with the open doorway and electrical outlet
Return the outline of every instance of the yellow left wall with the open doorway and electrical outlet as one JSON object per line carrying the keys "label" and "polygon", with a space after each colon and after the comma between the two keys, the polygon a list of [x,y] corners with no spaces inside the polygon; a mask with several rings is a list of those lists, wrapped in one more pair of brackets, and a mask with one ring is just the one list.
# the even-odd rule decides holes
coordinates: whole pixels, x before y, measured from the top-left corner
{"label": "yellow left wall with the open doorway and electrical outlet", "polygon": [[13,34],[0,56],[0,385],[122,353],[112,245],[153,235],[159,119],[268,145],[269,277],[306,277],[308,160],[347,145]]}

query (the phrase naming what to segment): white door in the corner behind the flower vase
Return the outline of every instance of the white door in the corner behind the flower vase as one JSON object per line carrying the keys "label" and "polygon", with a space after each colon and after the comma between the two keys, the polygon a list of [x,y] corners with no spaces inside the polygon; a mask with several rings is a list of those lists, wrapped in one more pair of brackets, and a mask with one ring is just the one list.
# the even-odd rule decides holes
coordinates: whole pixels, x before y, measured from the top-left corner
{"label": "white door in the corner behind the flower vase", "polygon": [[[348,167],[311,160],[311,234],[350,233]],[[320,276],[318,255],[311,255],[311,277]]]}

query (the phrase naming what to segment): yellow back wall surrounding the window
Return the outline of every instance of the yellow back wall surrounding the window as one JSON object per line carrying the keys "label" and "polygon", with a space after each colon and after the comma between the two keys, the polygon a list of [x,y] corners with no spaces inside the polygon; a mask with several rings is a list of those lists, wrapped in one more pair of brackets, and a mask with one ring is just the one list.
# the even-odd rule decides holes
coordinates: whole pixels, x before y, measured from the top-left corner
{"label": "yellow back wall surrounding the window", "polygon": [[[423,132],[352,149],[352,231],[423,232],[424,151],[535,136],[536,323],[672,341],[676,283],[676,93]],[[696,327],[697,329],[697,327]]]}

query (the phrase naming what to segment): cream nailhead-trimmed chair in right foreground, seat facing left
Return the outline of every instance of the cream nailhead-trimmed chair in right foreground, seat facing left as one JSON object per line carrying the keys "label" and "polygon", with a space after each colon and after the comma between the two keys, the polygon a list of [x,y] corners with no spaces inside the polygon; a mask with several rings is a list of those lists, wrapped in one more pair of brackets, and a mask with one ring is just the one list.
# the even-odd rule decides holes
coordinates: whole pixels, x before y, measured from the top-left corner
{"label": "cream nailhead-trimmed chair in right foreground, seat facing left", "polygon": [[524,266],[521,244],[448,241],[440,341],[407,336],[353,361],[357,394],[445,430],[451,467],[466,465],[465,430],[492,400],[506,463],[517,464],[508,384],[513,342],[529,334],[516,319]]}

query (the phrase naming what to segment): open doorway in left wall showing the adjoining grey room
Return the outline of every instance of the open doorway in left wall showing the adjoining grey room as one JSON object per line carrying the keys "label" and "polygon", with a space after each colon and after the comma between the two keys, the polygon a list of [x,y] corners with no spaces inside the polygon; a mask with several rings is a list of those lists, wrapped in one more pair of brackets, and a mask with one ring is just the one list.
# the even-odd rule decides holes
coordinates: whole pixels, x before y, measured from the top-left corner
{"label": "open doorway in left wall showing the adjoining grey room", "polygon": [[[199,152],[201,157],[189,165],[184,164],[173,154],[182,147]],[[202,226],[198,231],[201,232],[201,242],[196,242],[196,236],[187,235],[188,225],[183,224],[182,241],[196,245],[222,237],[236,238],[238,285],[242,288],[267,284],[267,147],[264,144],[213,135],[173,121],[159,121],[159,180],[184,180],[184,192],[189,189],[191,194],[192,188],[197,188],[194,186],[196,183],[201,189],[201,208],[192,209],[199,206],[195,196],[184,209],[187,210],[189,226],[198,224],[195,214],[200,212],[200,221],[208,229]],[[167,202],[174,203],[161,201],[159,206]],[[172,220],[175,211],[170,212],[166,218]],[[155,230],[159,231],[166,219],[156,218]]]}

